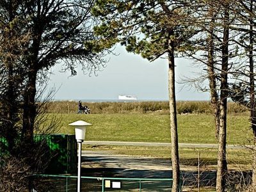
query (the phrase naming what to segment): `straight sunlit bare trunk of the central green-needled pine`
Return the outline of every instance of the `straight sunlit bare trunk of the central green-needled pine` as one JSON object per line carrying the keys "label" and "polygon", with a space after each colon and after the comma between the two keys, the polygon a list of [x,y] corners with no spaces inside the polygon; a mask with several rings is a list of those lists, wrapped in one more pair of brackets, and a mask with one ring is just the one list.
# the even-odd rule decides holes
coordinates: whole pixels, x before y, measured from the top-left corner
{"label": "straight sunlit bare trunk of the central green-needled pine", "polygon": [[178,130],[177,130],[177,112],[175,99],[175,65],[174,65],[174,45],[172,40],[169,40],[168,52],[169,72],[169,106],[170,106],[170,129],[172,139],[172,192],[179,191],[180,183],[180,167],[179,167],[179,144],[178,144]]}

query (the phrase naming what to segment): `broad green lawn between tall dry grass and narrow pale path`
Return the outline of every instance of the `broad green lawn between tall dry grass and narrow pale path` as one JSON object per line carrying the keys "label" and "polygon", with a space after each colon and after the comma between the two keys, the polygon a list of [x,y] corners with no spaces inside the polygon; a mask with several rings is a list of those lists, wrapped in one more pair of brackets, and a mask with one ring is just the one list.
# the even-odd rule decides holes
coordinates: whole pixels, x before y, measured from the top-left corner
{"label": "broad green lawn between tall dry grass and narrow pale path", "polygon": [[[61,118],[60,131],[74,132],[70,122],[84,120],[86,140],[170,142],[168,115],[157,114],[52,114]],[[227,143],[248,144],[252,138],[248,116],[228,116]],[[178,115],[179,143],[216,143],[212,115]]]}

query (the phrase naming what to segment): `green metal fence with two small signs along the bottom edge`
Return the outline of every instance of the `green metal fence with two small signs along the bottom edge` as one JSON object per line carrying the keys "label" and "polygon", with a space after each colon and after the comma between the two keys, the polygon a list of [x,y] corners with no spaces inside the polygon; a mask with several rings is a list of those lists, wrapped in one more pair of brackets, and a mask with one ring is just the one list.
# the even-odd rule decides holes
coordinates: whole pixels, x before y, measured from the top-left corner
{"label": "green metal fence with two small signs along the bottom edge", "polygon": [[[77,176],[34,175],[29,191],[77,191]],[[172,179],[81,177],[81,191],[172,191]]]}

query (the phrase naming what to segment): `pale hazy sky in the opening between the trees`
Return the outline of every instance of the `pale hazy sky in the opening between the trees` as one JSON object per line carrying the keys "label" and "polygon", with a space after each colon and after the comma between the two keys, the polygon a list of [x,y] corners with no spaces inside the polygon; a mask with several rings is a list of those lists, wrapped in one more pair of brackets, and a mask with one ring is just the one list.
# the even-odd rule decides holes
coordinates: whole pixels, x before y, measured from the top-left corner
{"label": "pale hazy sky in the opening between the trees", "polygon": [[[84,75],[77,69],[77,76],[69,77],[70,72],[59,72],[52,68],[49,87],[59,88],[55,99],[74,100],[115,100],[118,95],[136,95],[138,100],[168,100],[168,61],[159,59],[150,63],[141,56],[127,53],[124,47],[117,46],[118,56],[109,55],[107,67],[97,76]],[[176,60],[176,79],[193,76],[198,68],[190,65],[192,61]],[[182,88],[176,84],[177,100],[209,100],[208,93],[200,93],[195,88]]]}

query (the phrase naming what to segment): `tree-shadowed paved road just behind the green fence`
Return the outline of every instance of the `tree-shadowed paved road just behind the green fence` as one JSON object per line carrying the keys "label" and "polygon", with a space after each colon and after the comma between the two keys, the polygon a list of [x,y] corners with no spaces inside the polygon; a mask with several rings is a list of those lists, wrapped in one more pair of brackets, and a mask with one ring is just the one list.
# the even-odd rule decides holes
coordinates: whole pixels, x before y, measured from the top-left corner
{"label": "tree-shadowed paved road just behind the green fence", "polygon": [[[198,174],[195,166],[180,164],[180,170],[185,186],[195,184]],[[82,175],[92,177],[163,179],[172,178],[172,162],[170,158],[118,156],[106,151],[84,150],[81,171]],[[201,172],[200,177],[202,186],[212,185],[216,171]]]}

